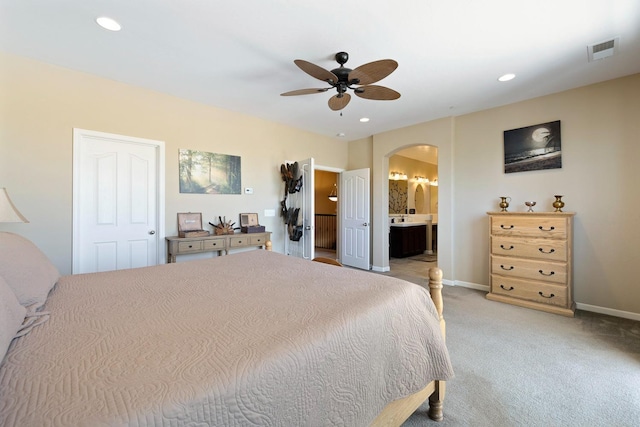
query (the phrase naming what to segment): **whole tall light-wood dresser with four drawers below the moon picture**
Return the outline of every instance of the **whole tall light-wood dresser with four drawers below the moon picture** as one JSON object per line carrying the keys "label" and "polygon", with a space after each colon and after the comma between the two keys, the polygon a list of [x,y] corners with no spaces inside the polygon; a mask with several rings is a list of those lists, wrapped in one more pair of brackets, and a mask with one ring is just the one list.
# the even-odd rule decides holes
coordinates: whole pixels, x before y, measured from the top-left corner
{"label": "whole tall light-wood dresser with four drawers below the moon picture", "polygon": [[487,212],[491,290],[487,298],[573,317],[573,212]]}

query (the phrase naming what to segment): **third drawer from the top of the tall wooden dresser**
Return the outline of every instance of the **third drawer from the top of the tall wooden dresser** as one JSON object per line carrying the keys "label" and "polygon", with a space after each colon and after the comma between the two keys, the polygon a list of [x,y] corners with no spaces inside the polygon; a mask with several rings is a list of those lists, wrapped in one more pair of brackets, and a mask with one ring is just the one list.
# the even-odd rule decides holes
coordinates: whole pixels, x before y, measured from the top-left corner
{"label": "third drawer from the top of the tall wooden dresser", "polygon": [[491,257],[491,274],[559,284],[567,283],[567,264],[510,257]]}

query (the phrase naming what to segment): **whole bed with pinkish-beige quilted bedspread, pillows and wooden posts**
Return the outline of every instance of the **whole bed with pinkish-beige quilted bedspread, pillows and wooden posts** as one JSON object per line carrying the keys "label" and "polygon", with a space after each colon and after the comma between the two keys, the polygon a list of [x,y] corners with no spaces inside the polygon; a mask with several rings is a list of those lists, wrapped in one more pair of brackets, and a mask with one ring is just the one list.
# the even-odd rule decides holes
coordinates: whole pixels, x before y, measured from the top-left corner
{"label": "whole bed with pinkish-beige quilted bedspread, pillows and wooden posts", "polygon": [[59,277],[0,233],[0,425],[400,425],[426,399],[441,419],[441,279],[265,250]]}

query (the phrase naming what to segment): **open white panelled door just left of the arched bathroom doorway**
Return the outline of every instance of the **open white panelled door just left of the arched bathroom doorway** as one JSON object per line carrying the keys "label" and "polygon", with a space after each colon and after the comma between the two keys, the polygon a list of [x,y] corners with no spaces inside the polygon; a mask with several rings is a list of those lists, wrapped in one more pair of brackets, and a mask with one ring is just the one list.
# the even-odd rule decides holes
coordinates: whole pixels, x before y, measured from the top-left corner
{"label": "open white panelled door just left of the arched bathroom doorway", "polygon": [[340,261],[344,265],[370,269],[371,190],[370,170],[340,174]]}

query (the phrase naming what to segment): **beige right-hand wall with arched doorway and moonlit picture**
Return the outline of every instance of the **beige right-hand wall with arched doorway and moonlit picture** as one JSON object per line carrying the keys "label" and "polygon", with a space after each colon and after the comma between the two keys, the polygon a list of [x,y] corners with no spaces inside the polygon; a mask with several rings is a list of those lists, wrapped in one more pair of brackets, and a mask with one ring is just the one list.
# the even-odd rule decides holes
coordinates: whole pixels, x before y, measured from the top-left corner
{"label": "beige right-hand wall with arched doorway and moonlit picture", "polygon": [[[503,131],[561,121],[561,169],[504,173]],[[447,127],[450,125],[450,128]],[[574,295],[578,308],[640,319],[640,74],[374,136],[374,235],[386,207],[388,156],[438,146],[438,263],[453,283],[489,284],[487,211],[499,196],[511,211],[552,210],[554,194],[576,212]],[[377,169],[377,172],[376,172]],[[384,266],[385,246],[374,251]]]}

